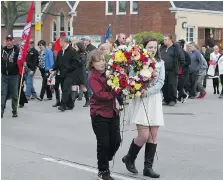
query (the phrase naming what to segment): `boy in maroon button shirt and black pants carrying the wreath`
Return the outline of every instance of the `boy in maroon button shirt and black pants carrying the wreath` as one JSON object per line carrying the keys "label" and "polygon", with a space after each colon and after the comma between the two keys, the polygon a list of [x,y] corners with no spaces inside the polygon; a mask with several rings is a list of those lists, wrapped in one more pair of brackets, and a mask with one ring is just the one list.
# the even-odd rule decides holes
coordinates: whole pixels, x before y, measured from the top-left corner
{"label": "boy in maroon button shirt and black pants carrying the wreath", "polygon": [[90,115],[97,139],[98,178],[113,180],[110,176],[109,161],[121,142],[117,96],[107,85],[103,51],[93,50],[88,58],[88,69],[91,71],[89,85],[93,92],[90,98]]}

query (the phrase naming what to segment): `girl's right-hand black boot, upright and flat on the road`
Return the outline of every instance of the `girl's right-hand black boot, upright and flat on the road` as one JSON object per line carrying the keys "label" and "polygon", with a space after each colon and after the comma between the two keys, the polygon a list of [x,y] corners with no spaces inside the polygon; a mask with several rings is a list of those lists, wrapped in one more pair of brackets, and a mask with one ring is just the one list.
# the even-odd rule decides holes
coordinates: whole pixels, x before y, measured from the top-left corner
{"label": "girl's right-hand black boot, upright and flat on the road", "polygon": [[153,171],[153,161],[156,154],[156,146],[157,144],[146,143],[145,147],[145,162],[144,162],[144,170],[143,175],[148,176],[150,178],[159,178],[160,175]]}

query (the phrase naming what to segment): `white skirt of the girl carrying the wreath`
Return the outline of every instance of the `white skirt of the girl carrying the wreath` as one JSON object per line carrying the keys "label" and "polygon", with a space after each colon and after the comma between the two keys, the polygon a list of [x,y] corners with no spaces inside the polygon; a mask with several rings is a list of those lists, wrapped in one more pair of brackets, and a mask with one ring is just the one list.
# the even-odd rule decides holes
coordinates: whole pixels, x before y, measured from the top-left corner
{"label": "white skirt of the girl carrying the wreath", "polygon": [[128,108],[128,122],[143,126],[164,126],[161,93],[132,99]]}

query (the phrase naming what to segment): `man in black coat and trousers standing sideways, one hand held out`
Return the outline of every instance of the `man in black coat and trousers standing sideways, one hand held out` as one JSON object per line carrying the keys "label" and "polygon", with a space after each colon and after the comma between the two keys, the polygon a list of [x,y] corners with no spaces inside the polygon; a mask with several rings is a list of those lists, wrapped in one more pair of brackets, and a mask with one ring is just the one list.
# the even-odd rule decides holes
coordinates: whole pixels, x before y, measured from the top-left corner
{"label": "man in black coat and trousers standing sideways, one hand held out", "polygon": [[50,69],[50,73],[55,73],[55,70],[59,70],[61,85],[62,85],[62,100],[60,111],[71,110],[74,108],[74,102],[72,100],[72,82],[73,73],[76,70],[76,62],[78,61],[78,53],[69,46],[69,38],[67,36],[60,38],[60,45],[62,50],[57,54],[57,60]]}

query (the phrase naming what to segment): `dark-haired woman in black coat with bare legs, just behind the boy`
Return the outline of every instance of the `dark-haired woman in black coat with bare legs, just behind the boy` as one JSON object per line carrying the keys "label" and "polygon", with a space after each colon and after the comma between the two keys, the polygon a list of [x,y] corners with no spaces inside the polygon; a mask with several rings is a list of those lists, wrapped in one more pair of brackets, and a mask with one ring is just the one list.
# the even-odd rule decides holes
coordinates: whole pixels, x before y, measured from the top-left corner
{"label": "dark-haired woman in black coat with bare legs, just behind the boy", "polygon": [[72,93],[73,93],[73,101],[75,102],[76,98],[78,98],[77,89],[78,86],[84,93],[85,97],[85,104],[83,107],[89,106],[89,93],[86,88],[87,83],[87,74],[86,74],[86,62],[87,62],[87,53],[85,52],[84,44],[83,42],[78,42],[74,44],[74,49],[78,53],[78,59],[75,62],[76,69],[73,74],[73,87],[72,87]]}

